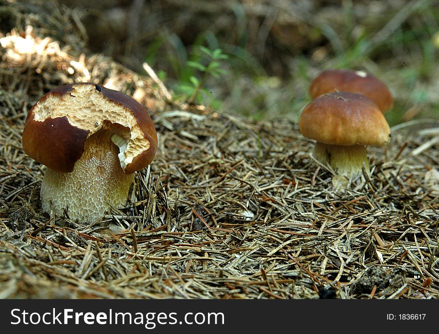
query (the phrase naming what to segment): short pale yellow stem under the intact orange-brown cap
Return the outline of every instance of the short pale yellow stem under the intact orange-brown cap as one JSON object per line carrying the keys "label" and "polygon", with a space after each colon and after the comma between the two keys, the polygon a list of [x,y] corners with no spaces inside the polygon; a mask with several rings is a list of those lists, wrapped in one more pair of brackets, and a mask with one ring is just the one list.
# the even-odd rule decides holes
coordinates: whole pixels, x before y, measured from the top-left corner
{"label": "short pale yellow stem under the intact orange-brown cap", "polygon": [[317,142],[313,156],[323,164],[328,164],[338,175],[348,178],[361,174],[363,164],[369,173],[369,160],[364,145],[328,145]]}

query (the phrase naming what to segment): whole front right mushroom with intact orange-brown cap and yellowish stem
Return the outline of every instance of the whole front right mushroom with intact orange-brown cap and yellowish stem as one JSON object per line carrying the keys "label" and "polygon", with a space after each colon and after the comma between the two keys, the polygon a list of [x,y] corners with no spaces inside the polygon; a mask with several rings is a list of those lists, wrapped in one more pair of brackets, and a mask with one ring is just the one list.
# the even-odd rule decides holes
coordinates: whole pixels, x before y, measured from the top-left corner
{"label": "whole front right mushroom with intact orange-brown cap and yellowish stem", "polygon": [[334,92],[318,96],[302,111],[303,136],[317,141],[313,156],[348,178],[369,171],[366,146],[384,146],[390,129],[378,106],[361,94]]}

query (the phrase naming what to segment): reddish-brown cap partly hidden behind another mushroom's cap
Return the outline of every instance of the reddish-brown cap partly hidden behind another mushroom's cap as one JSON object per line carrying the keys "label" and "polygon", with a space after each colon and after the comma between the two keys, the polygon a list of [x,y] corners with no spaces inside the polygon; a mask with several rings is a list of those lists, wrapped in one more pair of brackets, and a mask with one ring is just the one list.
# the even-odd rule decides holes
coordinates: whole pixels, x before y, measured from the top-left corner
{"label": "reddish-brown cap partly hidden behind another mushroom's cap", "polygon": [[381,80],[362,71],[326,70],[309,86],[312,99],[334,91],[362,94],[374,101],[383,113],[393,107],[393,97],[387,86]]}

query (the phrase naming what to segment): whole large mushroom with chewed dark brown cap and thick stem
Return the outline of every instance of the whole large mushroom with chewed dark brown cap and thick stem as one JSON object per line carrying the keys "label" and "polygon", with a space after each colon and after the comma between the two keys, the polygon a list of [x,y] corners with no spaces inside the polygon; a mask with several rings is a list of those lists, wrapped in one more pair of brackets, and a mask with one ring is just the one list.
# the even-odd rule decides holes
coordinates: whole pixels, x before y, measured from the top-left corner
{"label": "whole large mushroom with chewed dark brown cap and thick stem", "polygon": [[134,172],[154,158],[157,133],[133,98],[75,83],[48,92],[30,109],[22,145],[28,156],[47,166],[43,210],[67,210],[71,219],[85,222],[126,203]]}

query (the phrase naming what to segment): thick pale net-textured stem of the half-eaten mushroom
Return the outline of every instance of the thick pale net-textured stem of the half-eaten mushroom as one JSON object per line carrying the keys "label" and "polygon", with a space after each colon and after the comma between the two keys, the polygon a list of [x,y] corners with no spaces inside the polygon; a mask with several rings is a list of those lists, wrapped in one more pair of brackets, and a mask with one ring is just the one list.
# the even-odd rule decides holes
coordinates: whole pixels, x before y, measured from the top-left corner
{"label": "thick pale net-textured stem of the half-eaten mushroom", "polygon": [[41,183],[41,205],[45,212],[64,211],[70,219],[91,222],[134,199],[130,190],[134,173],[120,167],[119,148],[111,142],[111,133],[99,131],[85,142],[84,153],[70,173],[47,168]]}

